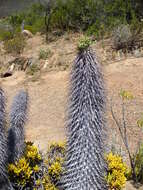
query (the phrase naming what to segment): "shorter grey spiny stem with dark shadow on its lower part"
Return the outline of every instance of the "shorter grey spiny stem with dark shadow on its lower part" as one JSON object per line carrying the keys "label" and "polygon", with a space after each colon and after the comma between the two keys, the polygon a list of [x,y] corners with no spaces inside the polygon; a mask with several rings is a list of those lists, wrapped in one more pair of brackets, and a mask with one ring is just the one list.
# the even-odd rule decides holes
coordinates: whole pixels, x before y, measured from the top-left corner
{"label": "shorter grey spiny stem with dark shadow on its lower part", "polygon": [[9,162],[18,160],[24,152],[24,124],[27,119],[28,94],[21,90],[13,100],[8,130]]}

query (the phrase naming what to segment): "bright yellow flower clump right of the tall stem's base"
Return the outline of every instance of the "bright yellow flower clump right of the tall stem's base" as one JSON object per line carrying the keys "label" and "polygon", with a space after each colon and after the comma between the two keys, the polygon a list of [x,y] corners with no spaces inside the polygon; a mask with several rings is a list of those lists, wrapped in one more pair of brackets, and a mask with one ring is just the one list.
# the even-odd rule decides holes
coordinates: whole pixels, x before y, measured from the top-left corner
{"label": "bright yellow flower clump right of the tall stem's base", "polygon": [[127,166],[121,156],[114,155],[112,152],[106,156],[108,172],[106,176],[107,184],[110,189],[122,189],[126,183]]}

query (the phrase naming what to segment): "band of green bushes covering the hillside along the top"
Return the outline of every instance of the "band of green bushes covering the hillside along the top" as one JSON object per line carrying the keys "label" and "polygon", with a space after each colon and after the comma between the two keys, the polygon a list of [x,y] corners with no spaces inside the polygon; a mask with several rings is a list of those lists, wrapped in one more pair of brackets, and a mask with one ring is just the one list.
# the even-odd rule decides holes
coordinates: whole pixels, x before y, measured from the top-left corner
{"label": "band of green bushes covering the hillside along the top", "polygon": [[[129,24],[137,29],[143,18],[143,2],[141,0],[55,0],[50,19],[50,30],[83,31],[88,35],[110,35],[111,31],[120,24]],[[45,11],[47,5],[36,3],[21,13],[6,18],[14,31],[20,30],[25,20],[25,29],[33,34],[45,32]],[[0,29],[1,30],[1,29]],[[5,39],[1,32],[0,39]]]}

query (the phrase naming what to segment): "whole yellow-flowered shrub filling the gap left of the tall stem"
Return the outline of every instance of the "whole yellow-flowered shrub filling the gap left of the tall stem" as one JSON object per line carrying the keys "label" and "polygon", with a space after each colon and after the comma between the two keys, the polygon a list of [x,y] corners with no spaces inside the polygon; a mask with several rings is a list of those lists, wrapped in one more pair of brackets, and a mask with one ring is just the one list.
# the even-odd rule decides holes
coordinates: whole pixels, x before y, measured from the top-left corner
{"label": "whole yellow-flowered shrub filling the gap left of the tall stem", "polygon": [[40,154],[31,142],[26,142],[23,157],[9,164],[9,179],[14,189],[58,190],[57,181],[62,173],[65,144],[52,143],[47,154]]}

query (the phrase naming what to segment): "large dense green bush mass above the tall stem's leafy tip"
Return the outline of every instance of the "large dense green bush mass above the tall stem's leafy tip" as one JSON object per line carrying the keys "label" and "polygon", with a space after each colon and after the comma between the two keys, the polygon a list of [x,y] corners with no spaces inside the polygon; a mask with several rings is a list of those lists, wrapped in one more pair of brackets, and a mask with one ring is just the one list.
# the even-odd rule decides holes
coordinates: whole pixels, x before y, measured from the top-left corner
{"label": "large dense green bush mass above the tall stem's leafy tip", "polygon": [[133,20],[140,23],[131,1],[60,0],[56,5],[50,22],[52,29],[82,30],[101,37],[121,24],[134,25]]}

